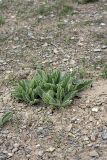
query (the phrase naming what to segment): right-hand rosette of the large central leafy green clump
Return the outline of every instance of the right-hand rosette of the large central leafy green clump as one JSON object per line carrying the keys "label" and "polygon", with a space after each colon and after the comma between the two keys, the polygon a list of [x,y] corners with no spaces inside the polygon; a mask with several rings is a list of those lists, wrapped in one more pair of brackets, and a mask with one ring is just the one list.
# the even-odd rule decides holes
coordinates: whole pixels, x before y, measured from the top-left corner
{"label": "right-hand rosette of the large central leafy green clump", "polygon": [[62,75],[56,70],[52,75],[54,75],[53,86],[48,91],[43,90],[42,99],[46,104],[57,108],[70,105],[76,94],[91,83],[91,81],[77,80],[75,72]]}

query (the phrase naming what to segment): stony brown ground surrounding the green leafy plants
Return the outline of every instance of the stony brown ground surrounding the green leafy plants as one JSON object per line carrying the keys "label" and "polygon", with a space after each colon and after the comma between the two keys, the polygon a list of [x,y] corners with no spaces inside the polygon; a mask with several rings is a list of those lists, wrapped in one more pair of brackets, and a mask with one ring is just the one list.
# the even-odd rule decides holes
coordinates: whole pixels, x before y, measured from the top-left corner
{"label": "stony brown ground surrounding the green leafy plants", "polygon": [[[107,160],[107,1],[70,3],[73,14],[37,12],[44,1],[0,0],[0,160]],[[54,4],[55,1],[48,3]],[[64,111],[29,106],[11,97],[15,81],[39,67],[79,68],[93,87]]]}

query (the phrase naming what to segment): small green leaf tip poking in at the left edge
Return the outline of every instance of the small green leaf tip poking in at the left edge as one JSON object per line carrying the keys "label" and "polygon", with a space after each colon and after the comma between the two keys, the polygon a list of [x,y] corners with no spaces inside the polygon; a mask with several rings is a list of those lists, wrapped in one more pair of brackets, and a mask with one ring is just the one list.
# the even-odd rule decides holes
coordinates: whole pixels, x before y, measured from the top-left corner
{"label": "small green leaf tip poking in at the left edge", "polygon": [[3,127],[7,122],[9,122],[13,117],[12,112],[6,112],[1,118],[0,118],[0,127]]}

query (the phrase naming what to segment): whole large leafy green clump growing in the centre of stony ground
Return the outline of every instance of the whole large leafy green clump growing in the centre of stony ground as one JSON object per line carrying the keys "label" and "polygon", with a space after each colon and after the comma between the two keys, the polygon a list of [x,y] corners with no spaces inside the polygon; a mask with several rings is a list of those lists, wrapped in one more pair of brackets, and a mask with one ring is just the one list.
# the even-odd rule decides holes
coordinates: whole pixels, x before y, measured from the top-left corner
{"label": "whole large leafy green clump growing in the centre of stony ground", "polygon": [[61,108],[68,106],[77,93],[90,84],[90,80],[78,80],[76,72],[63,74],[59,70],[50,73],[40,70],[32,80],[19,81],[12,95],[30,104],[41,99],[47,105]]}

